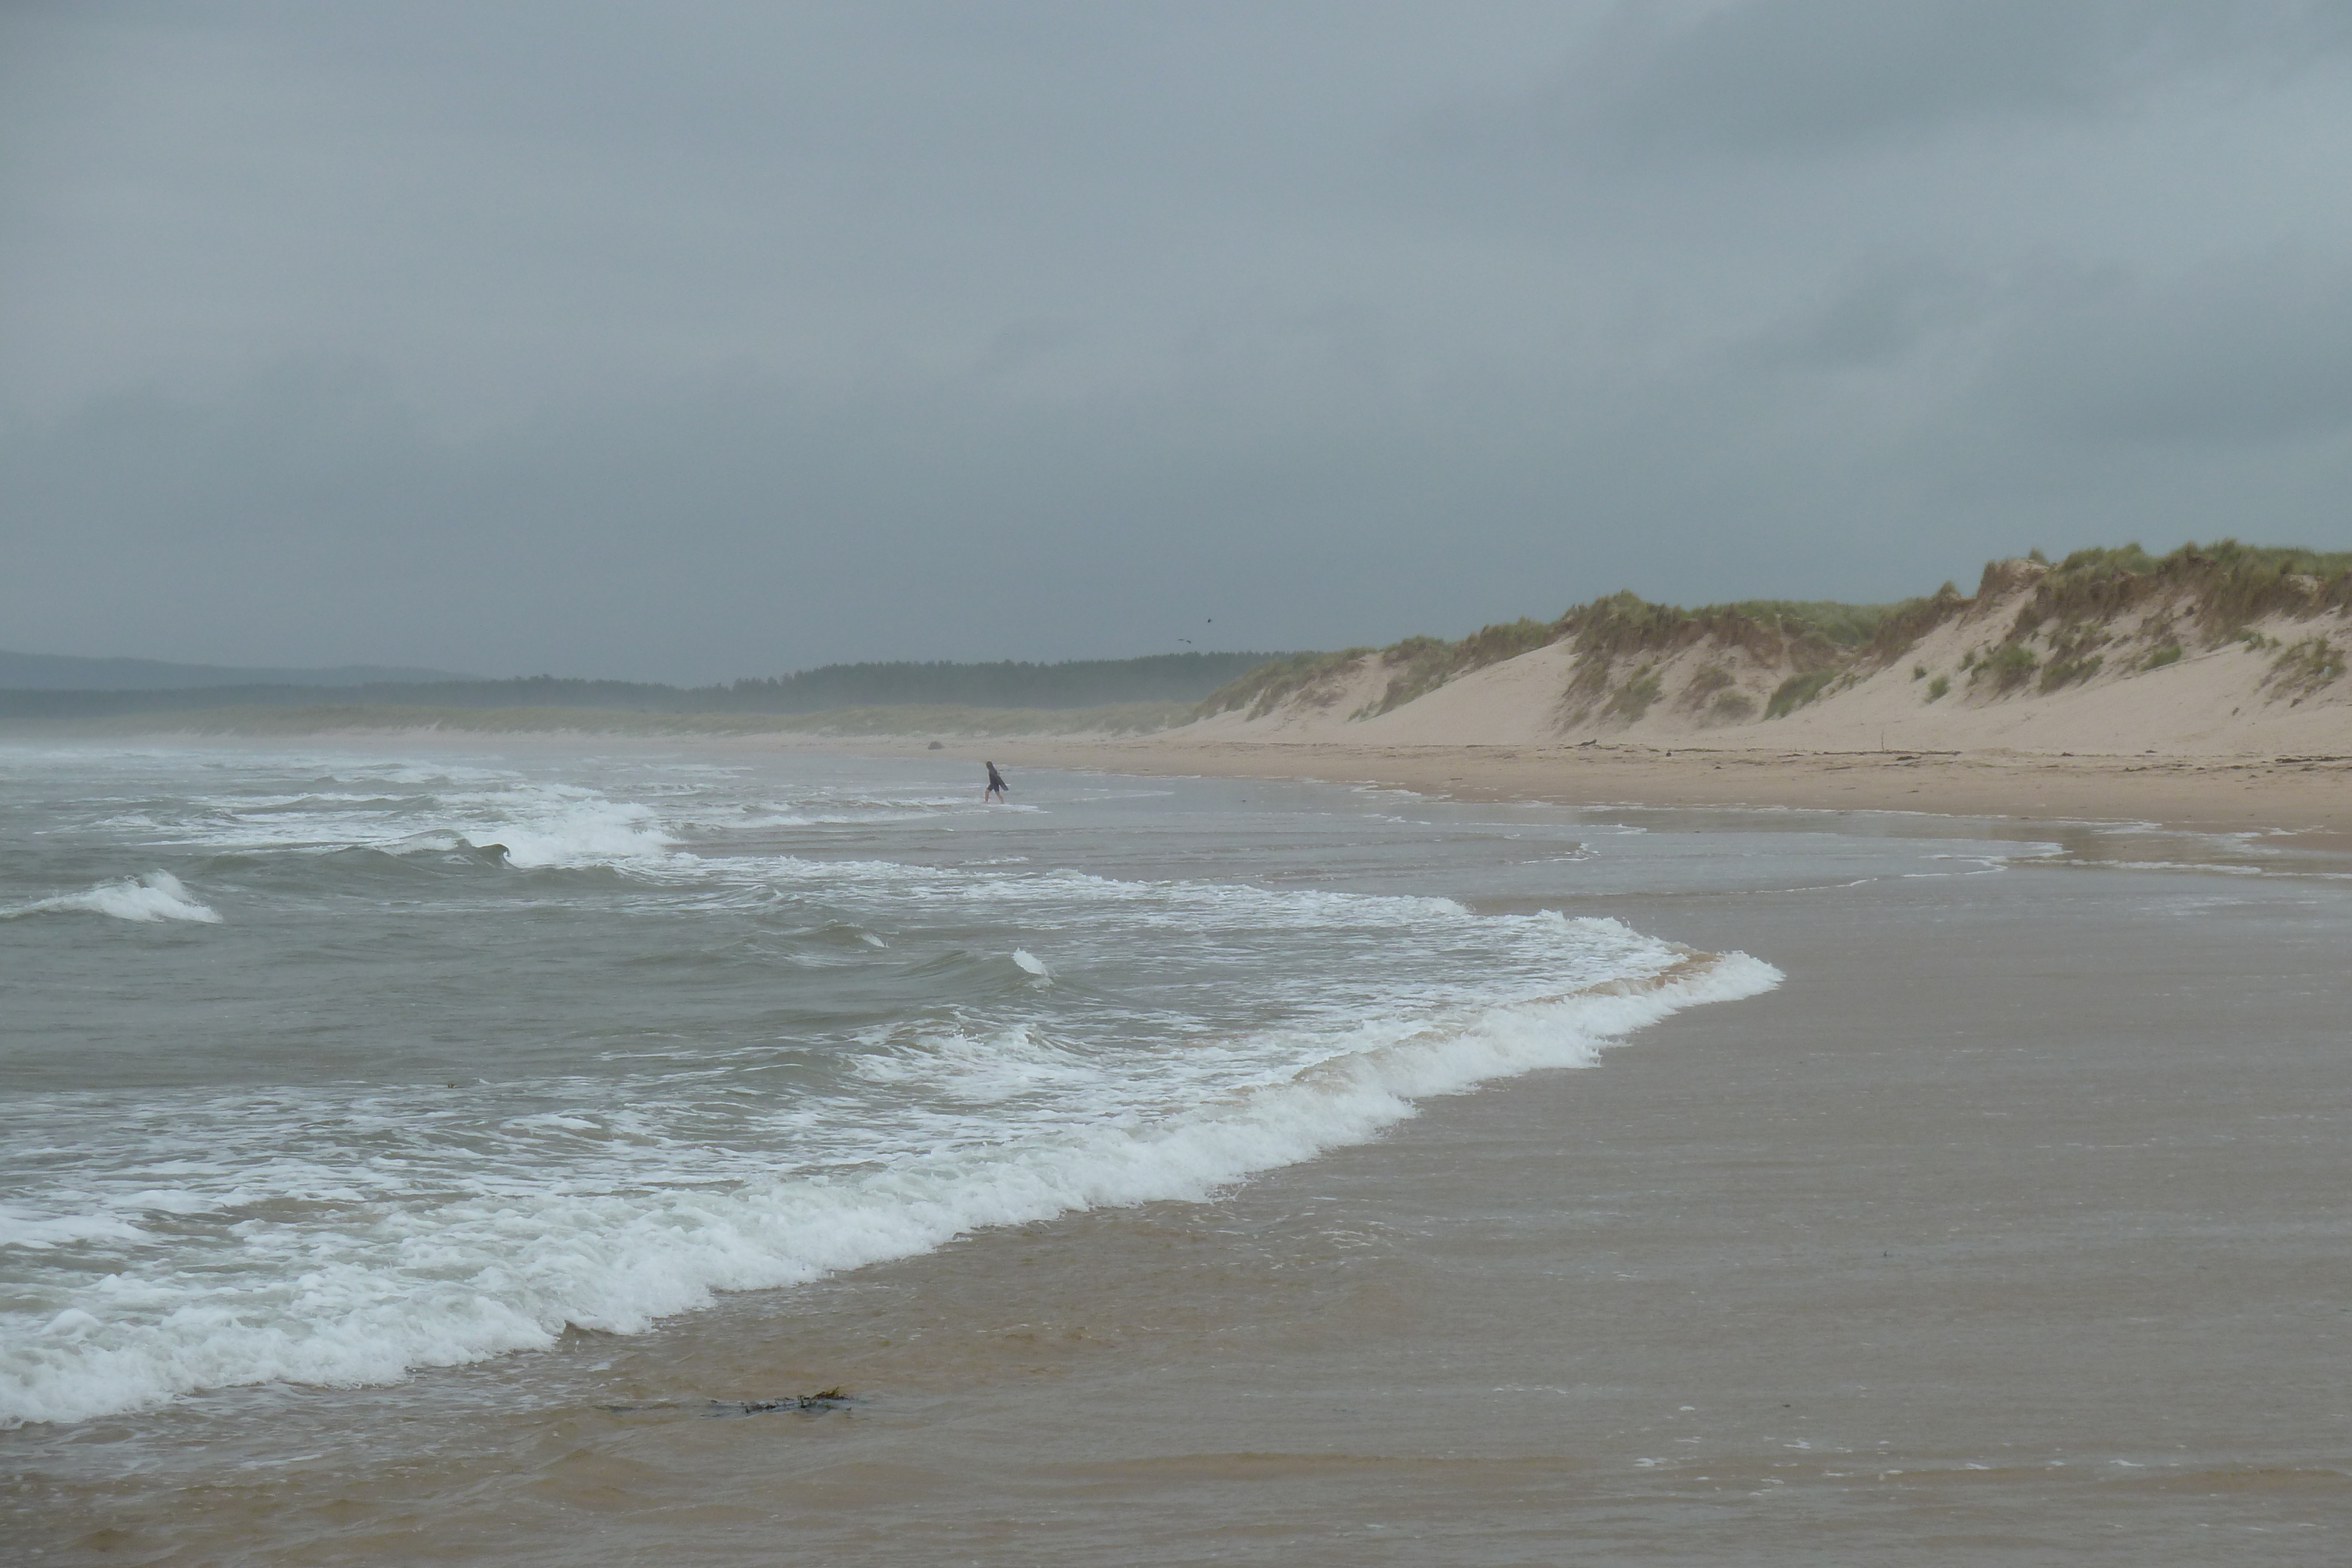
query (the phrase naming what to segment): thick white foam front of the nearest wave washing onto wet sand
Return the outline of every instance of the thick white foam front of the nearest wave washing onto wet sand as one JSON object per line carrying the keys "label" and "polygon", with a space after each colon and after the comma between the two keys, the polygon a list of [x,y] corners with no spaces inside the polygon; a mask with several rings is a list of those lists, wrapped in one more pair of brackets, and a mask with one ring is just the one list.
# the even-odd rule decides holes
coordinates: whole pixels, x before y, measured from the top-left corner
{"label": "thick white foam front of the nearest wave washing onto wet sand", "polygon": [[[1691,954],[1646,980],[1456,1013],[1371,1020],[1362,1048],[1145,1126],[1091,1126],[915,1157],[856,1178],[734,1192],[475,1199],[390,1213],[397,1269],[322,1260],[249,1298],[188,1300],[125,1272],[0,1345],[0,1422],[71,1422],[207,1387],[369,1385],[414,1368],[546,1347],[567,1324],[640,1333],[715,1291],[776,1288],[1061,1213],[1207,1199],[1256,1171],[1362,1143],[1416,1100],[1538,1067],[1583,1067],[1628,1032],[1700,1001],[1771,990],[1748,954]],[[141,1300],[146,1298],[146,1300]],[[101,1305],[101,1302],[94,1302]]]}

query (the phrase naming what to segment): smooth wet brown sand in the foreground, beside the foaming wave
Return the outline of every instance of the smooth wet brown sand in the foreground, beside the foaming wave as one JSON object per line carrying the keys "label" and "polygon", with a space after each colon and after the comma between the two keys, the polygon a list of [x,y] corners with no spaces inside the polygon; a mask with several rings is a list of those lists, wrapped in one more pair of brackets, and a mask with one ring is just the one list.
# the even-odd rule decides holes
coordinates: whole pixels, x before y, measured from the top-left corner
{"label": "smooth wet brown sand in the foreground, beside the foaming wave", "polygon": [[14,1514],[31,1561],[2345,1561],[2343,889],[1545,900],[1788,983],[1214,1204],[572,1335],[553,1406],[254,1392],[188,1486],[52,1455]]}

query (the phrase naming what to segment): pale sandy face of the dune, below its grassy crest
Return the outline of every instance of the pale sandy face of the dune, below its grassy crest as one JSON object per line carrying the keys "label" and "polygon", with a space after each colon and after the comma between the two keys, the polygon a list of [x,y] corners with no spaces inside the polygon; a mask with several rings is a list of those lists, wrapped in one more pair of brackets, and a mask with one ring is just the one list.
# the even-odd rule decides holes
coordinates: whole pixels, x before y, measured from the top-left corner
{"label": "pale sandy face of the dune, below its grassy crest", "polygon": [[1686,623],[1613,646],[1571,632],[1385,710],[1397,661],[1369,651],[1169,741],[2352,752],[2345,607],[2305,590],[2303,602],[2225,621],[2185,585],[2143,590],[2103,616],[2037,621],[2049,574],[2042,562],[1994,562],[1976,597],[1924,602],[1917,635],[1898,628],[1853,651],[1759,637],[1752,623]]}

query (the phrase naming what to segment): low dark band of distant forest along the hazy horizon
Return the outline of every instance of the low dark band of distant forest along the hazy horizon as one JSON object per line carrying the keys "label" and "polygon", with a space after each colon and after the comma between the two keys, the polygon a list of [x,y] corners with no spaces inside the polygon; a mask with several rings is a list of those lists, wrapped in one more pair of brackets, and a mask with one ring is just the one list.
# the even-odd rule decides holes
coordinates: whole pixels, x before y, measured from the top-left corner
{"label": "low dark band of distant forest along the hazy horizon", "polygon": [[355,686],[254,684],[160,691],[5,691],[0,717],[89,719],[122,712],[198,708],[296,708],[310,703],[400,703],[445,708],[623,708],[637,712],[823,712],[901,703],[950,708],[1101,708],[1108,703],[1197,703],[1277,654],[1152,654],[1148,658],[1073,658],[1033,663],[868,663],[823,665],[724,686],[644,682],[449,679],[367,682]]}

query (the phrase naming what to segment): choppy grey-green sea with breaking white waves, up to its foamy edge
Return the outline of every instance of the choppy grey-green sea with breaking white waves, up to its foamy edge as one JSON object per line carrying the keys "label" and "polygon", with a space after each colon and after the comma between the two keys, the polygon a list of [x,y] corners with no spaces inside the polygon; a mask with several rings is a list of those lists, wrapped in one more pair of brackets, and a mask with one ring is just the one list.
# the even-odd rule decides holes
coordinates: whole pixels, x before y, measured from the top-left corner
{"label": "choppy grey-green sea with breaking white waves, up to its foamy edge", "polygon": [[7,752],[0,1420],[390,1385],[1202,1199],[1778,978],[1425,891],[1672,877],[1639,830],[978,778]]}

